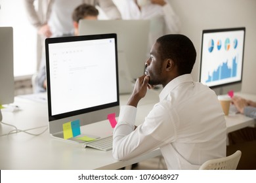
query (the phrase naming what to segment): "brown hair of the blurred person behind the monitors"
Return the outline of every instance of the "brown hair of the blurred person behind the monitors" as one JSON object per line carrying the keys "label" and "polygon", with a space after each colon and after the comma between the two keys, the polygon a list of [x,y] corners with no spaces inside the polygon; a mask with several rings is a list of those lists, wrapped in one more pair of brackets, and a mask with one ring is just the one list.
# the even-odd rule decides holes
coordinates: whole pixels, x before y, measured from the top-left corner
{"label": "brown hair of the blurred person behind the monitors", "polygon": [[75,22],[79,22],[85,16],[98,16],[98,9],[93,5],[83,3],[74,9],[72,19]]}

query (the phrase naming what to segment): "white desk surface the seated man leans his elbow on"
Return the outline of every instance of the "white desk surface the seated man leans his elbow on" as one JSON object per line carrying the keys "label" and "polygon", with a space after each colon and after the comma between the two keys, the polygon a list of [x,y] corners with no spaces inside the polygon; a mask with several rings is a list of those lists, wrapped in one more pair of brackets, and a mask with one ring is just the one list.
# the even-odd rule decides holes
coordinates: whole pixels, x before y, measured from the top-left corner
{"label": "white desk surface the seated man leans his elbow on", "polygon": [[[120,104],[125,105],[129,95],[120,96]],[[148,92],[139,103],[137,124],[144,120],[144,116],[158,102],[158,92]],[[16,97],[15,105],[20,107],[16,112],[2,112],[3,122],[12,124],[18,129],[31,129],[30,133],[40,133],[48,126],[47,103],[33,101],[24,97]],[[242,114],[226,117],[228,132],[252,125],[255,120]],[[97,129],[95,135],[109,135],[112,133],[109,122],[81,127],[82,133],[89,133]],[[0,124],[0,135],[14,129]],[[83,148],[82,144],[54,139],[48,130],[39,136],[26,133],[14,133],[0,137],[0,169],[119,169],[139,161],[160,156],[160,150],[155,150],[129,161],[117,161],[112,158],[112,151],[103,152],[93,148]]]}

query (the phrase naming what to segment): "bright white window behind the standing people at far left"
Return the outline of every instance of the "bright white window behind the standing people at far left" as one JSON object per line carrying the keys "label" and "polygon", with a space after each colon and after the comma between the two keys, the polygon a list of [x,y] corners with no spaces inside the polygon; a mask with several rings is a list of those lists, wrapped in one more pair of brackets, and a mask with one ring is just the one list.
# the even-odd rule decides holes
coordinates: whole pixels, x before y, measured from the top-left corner
{"label": "bright white window behind the standing people at far left", "polygon": [[14,76],[33,75],[37,67],[37,33],[28,22],[23,1],[0,0],[0,26],[13,27]]}

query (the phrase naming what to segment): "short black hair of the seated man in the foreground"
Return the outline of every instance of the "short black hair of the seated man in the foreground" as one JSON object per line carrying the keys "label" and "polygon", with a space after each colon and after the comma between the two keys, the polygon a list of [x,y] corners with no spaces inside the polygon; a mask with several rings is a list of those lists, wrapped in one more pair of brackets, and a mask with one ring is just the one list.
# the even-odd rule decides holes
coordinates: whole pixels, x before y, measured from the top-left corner
{"label": "short black hair of the seated man in the foreground", "polygon": [[194,44],[185,35],[163,35],[160,44],[161,59],[172,59],[178,66],[179,75],[190,74],[196,61]]}

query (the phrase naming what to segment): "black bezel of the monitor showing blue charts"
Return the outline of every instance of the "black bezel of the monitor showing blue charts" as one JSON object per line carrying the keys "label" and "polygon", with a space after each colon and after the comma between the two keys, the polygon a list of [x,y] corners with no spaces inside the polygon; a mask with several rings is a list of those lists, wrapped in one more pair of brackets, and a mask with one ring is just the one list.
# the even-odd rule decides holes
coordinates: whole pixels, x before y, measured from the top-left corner
{"label": "black bezel of the monitor showing blue charts", "polygon": [[241,78],[240,80],[234,81],[234,82],[228,82],[224,84],[217,84],[214,86],[209,86],[209,88],[220,88],[224,86],[229,86],[232,84],[238,84],[242,83],[242,78],[243,78],[243,70],[244,70],[244,48],[245,48],[245,27],[232,27],[232,28],[223,28],[223,29],[204,29],[202,31],[202,40],[201,40],[201,53],[200,53],[200,70],[199,70],[199,81],[201,82],[202,78],[202,56],[203,56],[203,35],[205,33],[219,33],[219,32],[228,32],[228,31],[244,31],[244,42],[243,42],[243,52],[242,52],[242,72],[241,72]]}

